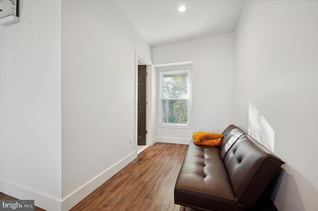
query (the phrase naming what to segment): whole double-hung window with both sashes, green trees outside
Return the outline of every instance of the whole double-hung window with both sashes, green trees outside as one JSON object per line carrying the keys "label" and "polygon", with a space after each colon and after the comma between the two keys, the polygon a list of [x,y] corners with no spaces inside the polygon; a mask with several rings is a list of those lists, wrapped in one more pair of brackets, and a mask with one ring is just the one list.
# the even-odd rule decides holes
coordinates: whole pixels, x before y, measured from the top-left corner
{"label": "whole double-hung window with both sashes, green trees outside", "polygon": [[[167,70],[168,69],[168,70]],[[190,69],[159,69],[159,121],[161,126],[190,125]]]}

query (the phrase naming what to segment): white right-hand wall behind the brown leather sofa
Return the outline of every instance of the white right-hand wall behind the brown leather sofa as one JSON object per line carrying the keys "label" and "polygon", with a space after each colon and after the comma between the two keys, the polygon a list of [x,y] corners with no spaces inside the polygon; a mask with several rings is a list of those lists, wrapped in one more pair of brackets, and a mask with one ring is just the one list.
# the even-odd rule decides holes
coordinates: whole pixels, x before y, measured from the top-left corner
{"label": "white right-hand wall behind the brown leather sofa", "polygon": [[236,29],[235,123],[248,103],[275,131],[286,164],[272,192],[279,211],[318,210],[318,1],[246,1]]}

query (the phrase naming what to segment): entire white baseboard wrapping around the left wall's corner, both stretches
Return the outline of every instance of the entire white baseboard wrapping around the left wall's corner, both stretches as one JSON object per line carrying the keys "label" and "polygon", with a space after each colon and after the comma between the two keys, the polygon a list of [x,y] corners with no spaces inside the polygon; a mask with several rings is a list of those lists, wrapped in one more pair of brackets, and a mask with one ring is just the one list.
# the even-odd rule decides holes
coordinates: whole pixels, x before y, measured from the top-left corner
{"label": "entire white baseboard wrapping around the left wall's corner, both stretches", "polygon": [[1,178],[0,192],[21,200],[34,200],[35,206],[47,211],[69,211],[135,158],[137,158],[137,151],[118,161],[63,200]]}

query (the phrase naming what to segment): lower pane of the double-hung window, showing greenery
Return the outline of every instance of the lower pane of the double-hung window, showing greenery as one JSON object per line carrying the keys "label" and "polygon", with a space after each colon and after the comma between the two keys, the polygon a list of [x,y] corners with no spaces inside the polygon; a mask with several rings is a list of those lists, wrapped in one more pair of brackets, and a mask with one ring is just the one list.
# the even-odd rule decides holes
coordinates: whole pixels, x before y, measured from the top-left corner
{"label": "lower pane of the double-hung window, showing greenery", "polygon": [[188,123],[188,100],[162,100],[162,123]]}

